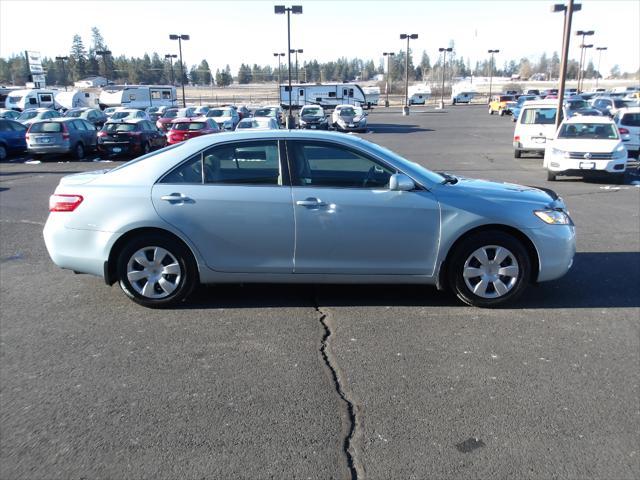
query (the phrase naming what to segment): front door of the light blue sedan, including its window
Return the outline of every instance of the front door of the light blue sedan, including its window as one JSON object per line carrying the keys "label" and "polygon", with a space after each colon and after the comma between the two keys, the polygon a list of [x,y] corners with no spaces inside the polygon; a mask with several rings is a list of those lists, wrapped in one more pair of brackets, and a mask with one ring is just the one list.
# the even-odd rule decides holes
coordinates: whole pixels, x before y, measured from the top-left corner
{"label": "front door of the light blue sedan, including its window", "polygon": [[296,273],[432,275],[440,211],[424,189],[391,191],[396,171],[328,142],[290,141]]}

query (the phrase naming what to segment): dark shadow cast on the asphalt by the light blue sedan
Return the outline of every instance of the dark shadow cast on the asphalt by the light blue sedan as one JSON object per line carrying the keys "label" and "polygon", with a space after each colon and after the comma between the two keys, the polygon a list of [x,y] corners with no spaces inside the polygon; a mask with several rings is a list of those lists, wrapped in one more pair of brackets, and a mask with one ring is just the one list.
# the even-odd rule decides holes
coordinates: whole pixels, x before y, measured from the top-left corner
{"label": "dark shadow cast on the asphalt by the light blue sedan", "polygon": [[[530,286],[506,308],[640,307],[640,252],[577,253],[562,278]],[[461,307],[428,285],[219,284],[200,286],[178,309],[325,306]]]}

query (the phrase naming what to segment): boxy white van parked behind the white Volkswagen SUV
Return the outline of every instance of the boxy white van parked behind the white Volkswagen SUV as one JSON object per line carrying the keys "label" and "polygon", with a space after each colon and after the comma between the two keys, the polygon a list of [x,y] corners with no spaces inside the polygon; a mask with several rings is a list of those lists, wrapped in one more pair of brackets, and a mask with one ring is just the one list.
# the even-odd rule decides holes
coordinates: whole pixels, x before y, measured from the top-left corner
{"label": "boxy white van parked behind the white Volkswagen SUV", "polygon": [[557,110],[558,100],[524,102],[513,132],[515,158],[520,158],[522,152],[544,154],[547,141],[556,133]]}

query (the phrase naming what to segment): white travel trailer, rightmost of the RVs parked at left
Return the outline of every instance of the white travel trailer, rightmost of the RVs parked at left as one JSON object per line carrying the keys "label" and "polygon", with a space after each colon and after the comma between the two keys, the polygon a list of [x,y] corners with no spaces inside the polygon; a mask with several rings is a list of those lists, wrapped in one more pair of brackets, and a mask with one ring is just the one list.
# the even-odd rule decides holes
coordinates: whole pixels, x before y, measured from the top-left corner
{"label": "white travel trailer, rightmost of the RVs parked at left", "polygon": [[100,108],[174,107],[176,87],[170,85],[109,85],[100,93]]}

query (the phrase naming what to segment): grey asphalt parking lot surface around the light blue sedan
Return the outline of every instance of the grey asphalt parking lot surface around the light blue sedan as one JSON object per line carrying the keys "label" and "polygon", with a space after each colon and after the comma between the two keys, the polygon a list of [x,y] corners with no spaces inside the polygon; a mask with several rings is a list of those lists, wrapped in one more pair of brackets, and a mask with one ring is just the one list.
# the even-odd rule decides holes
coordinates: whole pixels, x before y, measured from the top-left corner
{"label": "grey asphalt parking lot surface around the light blue sedan", "polygon": [[[0,478],[640,477],[640,175],[547,182],[484,106],[374,110],[437,171],[556,190],[563,278],[511,308],[422,286],[201,287],[149,310],[57,268],[42,228],[97,156],[0,164]],[[28,163],[25,163],[28,162]]]}

